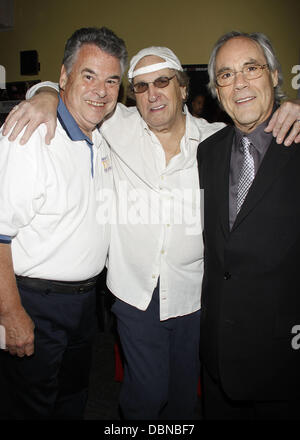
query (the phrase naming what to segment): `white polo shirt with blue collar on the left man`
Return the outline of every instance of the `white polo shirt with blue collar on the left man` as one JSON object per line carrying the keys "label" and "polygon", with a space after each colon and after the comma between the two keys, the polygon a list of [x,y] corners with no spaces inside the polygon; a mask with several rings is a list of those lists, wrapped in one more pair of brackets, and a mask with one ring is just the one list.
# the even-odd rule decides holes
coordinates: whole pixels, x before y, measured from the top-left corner
{"label": "white polo shirt with blue collar on the left man", "polygon": [[[72,133],[70,118],[62,122]],[[110,151],[97,129],[92,145],[80,132],[72,140],[58,121],[50,146],[44,125],[25,146],[0,135],[0,238],[12,237],[17,275],[79,281],[105,265],[110,231],[98,221],[99,191],[112,188]]]}

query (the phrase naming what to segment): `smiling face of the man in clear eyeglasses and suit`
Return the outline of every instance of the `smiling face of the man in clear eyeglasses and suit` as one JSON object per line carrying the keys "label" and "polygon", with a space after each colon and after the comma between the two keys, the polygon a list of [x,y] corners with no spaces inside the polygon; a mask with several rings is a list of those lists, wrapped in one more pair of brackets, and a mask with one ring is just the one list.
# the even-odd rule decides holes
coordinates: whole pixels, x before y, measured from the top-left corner
{"label": "smiling face of the man in clear eyeglasses and suit", "polygon": [[[224,69],[239,72],[248,63],[267,63],[261,47],[249,38],[232,38],[217,53],[216,74]],[[246,80],[240,72],[236,74],[233,84],[217,87],[216,91],[234,124],[249,133],[270,116],[277,82],[277,71],[264,69],[260,78],[251,80]]]}

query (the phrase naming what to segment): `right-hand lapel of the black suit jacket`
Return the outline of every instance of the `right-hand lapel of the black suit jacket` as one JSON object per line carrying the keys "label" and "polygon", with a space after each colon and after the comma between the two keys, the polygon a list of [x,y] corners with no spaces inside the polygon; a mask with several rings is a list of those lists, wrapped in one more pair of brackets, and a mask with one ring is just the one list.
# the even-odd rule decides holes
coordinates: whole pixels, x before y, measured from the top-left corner
{"label": "right-hand lapel of the black suit jacket", "polygon": [[243,219],[264,197],[274,180],[280,175],[283,168],[286,166],[295,148],[295,146],[285,147],[283,145],[278,145],[275,139],[273,139],[249,189],[241,210],[236,217],[232,226],[232,231],[239,226]]}

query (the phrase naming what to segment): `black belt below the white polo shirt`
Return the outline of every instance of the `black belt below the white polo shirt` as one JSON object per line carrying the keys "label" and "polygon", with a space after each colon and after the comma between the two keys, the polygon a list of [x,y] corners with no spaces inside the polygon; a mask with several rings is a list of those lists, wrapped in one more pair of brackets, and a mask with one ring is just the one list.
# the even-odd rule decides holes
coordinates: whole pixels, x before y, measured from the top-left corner
{"label": "black belt below the white polo shirt", "polygon": [[19,287],[44,293],[84,293],[96,286],[98,276],[85,281],[56,281],[16,275]]}

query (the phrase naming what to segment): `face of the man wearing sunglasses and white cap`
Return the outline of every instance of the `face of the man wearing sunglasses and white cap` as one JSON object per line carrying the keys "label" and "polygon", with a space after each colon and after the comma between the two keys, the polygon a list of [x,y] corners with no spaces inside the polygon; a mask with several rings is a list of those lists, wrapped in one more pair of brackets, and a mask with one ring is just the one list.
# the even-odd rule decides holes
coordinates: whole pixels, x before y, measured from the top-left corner
{"label": "face of the man wearing sunglasses and white cap", "polygon": [[[136,65],[135,70],[163,62],[164,60],[155,55],[142,58]],[[161,76],[170,78],[174,71],[169,68],[157,70],[151,73],[137,75],[133,83],[152,82]],[[153,132],[170,131],[177,123],[183,120],[182,103],[186,96],[186,88],[179,85],[176,76],[170,80],[169,85],[164,88],[155,87],[149,84],[148,90],[144,93],[137,93],[136,105],[144,121]]]}

